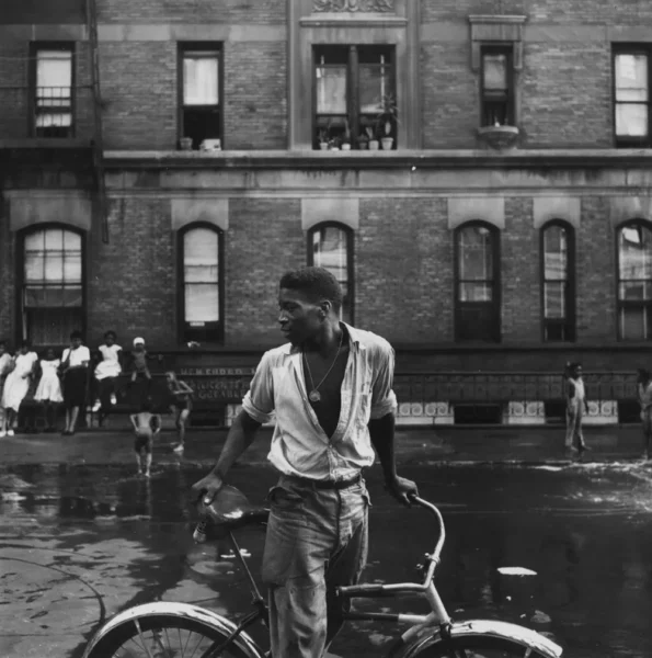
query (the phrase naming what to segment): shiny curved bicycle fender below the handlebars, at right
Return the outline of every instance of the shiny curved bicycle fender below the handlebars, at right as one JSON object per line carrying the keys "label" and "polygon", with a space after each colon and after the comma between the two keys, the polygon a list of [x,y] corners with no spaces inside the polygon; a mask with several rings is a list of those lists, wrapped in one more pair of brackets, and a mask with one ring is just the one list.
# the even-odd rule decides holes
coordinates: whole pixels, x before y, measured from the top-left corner
{"label": "shiny curved bicycle fender below the handlebars, at right", "polygon": [[[518,626],[508,622],[497,622],[493,620],[468,620],[466,622],[454,622],[450,626],[451,637],[496,637],[516,643],[524,648],[530,647],[545,658],[560,658],[563,649],[546,636]],[[426,638],[416,638],[410,644],[401,658],[413,658],[421,655],[421,651],[445,642],[442,632],[437,628]]]}

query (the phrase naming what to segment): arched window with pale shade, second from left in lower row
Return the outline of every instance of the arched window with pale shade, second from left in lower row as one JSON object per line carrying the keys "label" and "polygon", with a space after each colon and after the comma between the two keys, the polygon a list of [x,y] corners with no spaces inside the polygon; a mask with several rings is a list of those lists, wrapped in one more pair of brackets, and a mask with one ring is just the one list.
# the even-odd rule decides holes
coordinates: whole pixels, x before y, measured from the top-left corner
{"label": "arched window with pale shade, second from left in lower row", "polygon": [[219,342],[224,337],[222,232],[191,225],[180,232],[181,340]]}

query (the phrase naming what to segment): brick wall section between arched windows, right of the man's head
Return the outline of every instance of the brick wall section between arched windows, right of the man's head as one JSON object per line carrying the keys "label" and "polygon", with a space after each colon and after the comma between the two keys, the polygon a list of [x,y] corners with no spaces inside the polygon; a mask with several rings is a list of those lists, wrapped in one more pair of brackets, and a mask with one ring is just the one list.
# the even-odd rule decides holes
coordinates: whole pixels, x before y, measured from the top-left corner
{"label": "brick wall section between arched windows, right of the man's head", "polygon": [[404,343],[450,340],[451,246],[446,200],[363,200],[355,235],[356,325]]}

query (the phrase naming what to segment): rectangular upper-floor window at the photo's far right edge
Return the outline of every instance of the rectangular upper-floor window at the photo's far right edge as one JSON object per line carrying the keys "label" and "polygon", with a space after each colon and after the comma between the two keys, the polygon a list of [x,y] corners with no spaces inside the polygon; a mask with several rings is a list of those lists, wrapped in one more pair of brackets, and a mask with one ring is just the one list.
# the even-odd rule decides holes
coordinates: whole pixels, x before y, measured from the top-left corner
{"label": "rectangular upper-floor window at the photo's far right edge", "polygon": [[616,146],[650,146],[649,48],[619,46],[614,53]]}

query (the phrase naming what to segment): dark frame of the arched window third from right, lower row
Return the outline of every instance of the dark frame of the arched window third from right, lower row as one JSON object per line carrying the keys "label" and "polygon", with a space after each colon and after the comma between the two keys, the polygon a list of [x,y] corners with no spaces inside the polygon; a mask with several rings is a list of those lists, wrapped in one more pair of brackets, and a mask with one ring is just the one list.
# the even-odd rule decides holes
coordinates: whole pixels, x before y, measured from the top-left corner
{"label": "dark frame of the arched window third from right, lower row", "polygon": [[[482,227],[490,231],[492,239],[492,300],[487,302],[461,302],[459,292],[461,290],[460,284],[462,281],[459,276],[460,268],[460,240],[461,232],[471,227]],[[457,226],[453,232],[453,285],[454,285],[454,340],[456,343],[473,344],[473,343],[501,343],[502,342],[502,281],[501,281],[501,230],[493,224],[484,222],[482,219],[471,219]],[[490,334],[485,339],[467,339],[461,337],[461,315],[465,304],[491,304],[493,318],[493,326],[491,327]]]}

